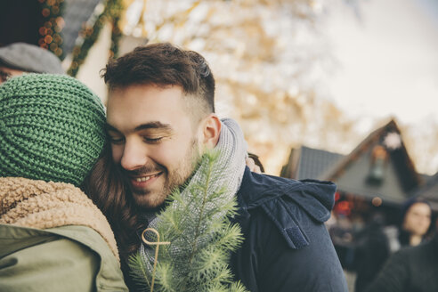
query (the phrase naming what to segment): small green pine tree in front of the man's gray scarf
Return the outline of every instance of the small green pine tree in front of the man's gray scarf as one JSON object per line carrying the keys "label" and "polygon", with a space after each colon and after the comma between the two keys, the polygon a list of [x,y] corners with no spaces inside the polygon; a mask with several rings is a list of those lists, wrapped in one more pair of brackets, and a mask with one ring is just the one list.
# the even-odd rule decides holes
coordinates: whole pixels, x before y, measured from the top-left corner
{"label": "small green pine tree in front of the man's gray scarf", "polygon": [[[229,219],[237,211],[235,196],[217,183],[223,174],[215,164],[219,155],[218,151],[204,154],[197,167],[199,182],[186,185],[184,195],[173,191],[170,204],[158,215],[160,241],[170,244],[159,246],[156,292],[247,291],[233,281],[228,265],[243,238],[239,225]],[[152,264],[137,253],[129,266],[134,279],[150,291]]]}

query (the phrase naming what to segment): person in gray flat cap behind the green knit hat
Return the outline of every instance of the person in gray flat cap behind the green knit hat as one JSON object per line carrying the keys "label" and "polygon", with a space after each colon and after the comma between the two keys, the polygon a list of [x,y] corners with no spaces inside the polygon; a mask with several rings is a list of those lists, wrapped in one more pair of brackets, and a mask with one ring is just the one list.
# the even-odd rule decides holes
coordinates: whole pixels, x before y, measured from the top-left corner
{"label": "person in gray flat cap behind the green knit hat", "polygon": [[0,48],[0,84],[25,72],[65,74],[61,60],[37,45],[13,43]]}

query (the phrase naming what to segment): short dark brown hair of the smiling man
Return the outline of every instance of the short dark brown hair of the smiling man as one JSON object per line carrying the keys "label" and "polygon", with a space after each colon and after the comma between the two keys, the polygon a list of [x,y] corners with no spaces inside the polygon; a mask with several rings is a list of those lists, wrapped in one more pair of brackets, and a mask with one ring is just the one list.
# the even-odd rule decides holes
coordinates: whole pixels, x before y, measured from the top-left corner
{"label": "short dark brown hair of the smiling man", "polygon": [[215,78],[207,61],[199,53],[169,43],[138,46],[110,61],[101,76],[110,89],[179,85],[183,93],[195,97],[203,112],[215,112]]}

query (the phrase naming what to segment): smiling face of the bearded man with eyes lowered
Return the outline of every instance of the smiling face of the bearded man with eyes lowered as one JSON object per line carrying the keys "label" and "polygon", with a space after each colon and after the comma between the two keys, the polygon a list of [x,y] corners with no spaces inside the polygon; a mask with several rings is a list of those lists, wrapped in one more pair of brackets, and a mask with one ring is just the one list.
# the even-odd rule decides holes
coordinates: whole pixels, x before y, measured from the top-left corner
{"label": "smiling face of the bearded man with eyes lowered", "polygon": [[183,102],[179,86],[130,85],[110,92],[113,160],[139,207],[159,207],[193,171],[199,139]]}

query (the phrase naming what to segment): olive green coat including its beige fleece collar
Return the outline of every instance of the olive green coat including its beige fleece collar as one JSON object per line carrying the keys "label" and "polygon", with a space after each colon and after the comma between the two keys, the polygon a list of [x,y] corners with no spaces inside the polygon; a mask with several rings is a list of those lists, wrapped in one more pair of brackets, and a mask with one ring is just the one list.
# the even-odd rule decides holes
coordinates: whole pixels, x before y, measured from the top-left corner
{"label": "olive green coat including its beige fleece collar", "polygon": [[110,225],[82,191],[0,178],[0,291],[127,291]]}

